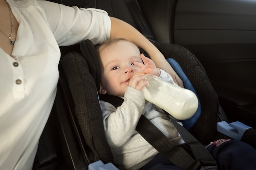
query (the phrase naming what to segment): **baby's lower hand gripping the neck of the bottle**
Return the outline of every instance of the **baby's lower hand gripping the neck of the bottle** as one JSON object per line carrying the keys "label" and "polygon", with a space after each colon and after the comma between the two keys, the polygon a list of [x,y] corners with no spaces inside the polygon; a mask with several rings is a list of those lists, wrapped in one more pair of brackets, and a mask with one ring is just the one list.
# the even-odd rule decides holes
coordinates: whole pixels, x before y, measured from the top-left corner
{"label": "baby's lower hand gripping the neck of the bottle", "polygon": [[[148,84],[148,81],[145,81],[145,75],[143,73],[135,74],[129,82],[129,86],[141,91],[141,89]],[[143,81],[144,80],[144,81]]]}

